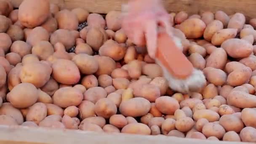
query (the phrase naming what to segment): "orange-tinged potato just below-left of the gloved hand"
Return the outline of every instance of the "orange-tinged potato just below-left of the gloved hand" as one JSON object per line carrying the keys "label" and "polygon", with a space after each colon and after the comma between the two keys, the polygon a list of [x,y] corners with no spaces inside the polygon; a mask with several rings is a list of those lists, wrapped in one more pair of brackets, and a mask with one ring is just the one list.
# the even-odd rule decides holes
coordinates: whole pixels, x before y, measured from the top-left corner
{"label": "orange-tinged potato just below-left of the gloved hand", "polygon": [[120,61],[125,56],[125,47],[114,40],[107,40],[99,48],[100,56],[109,56],[115,61]]}

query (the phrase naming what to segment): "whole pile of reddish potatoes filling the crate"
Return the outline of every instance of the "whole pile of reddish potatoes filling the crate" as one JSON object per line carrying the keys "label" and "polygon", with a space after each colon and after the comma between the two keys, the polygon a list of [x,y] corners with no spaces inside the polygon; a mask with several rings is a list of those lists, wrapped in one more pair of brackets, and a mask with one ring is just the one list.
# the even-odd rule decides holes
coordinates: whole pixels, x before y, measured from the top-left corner
{"label": "whole pile of reddish potatoes filling the crate", "polygon": [[184,54],[208,81],[186,94],[168,88],[160,66],[131,43],[120,12],[13,5],[0,0],[0,125],[256,142],[256,19],[170,13]]}

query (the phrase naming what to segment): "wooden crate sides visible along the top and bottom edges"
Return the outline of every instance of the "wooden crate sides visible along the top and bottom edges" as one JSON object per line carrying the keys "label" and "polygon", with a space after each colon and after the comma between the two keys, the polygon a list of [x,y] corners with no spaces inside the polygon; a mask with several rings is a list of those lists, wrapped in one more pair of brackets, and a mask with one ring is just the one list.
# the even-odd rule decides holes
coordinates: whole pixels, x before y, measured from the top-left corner
{"label": "wooden crate sides visible along the top and bottom edges", "polygon": [[[11,0],[19,7],[22,0]],[[91,13],[120,11],[121,4],[128,0],[50,0],[61,9],[82,7]],[[196,14],[200,11],[224,11],[227,14],[240,12],[246,19],[256,18],[256,0],[164,0],[169,12],[186,11]],[[251,144],[245,142],[205,141],[171,136],[141,136],[129,134],[96,133],[78,130],[50,128],[25,128],[21,126],[0,126],[0,144]]]}

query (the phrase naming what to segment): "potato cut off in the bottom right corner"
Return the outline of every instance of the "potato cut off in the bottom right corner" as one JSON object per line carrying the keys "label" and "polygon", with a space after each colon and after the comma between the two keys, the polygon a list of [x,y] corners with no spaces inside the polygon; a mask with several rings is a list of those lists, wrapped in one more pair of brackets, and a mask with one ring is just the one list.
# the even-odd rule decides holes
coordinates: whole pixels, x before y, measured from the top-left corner
{"label": "potato cut off in the bottom right corner", "polygon": [[240,138],[243,142],[256,142],[255,138],[256,129],[253,127],[245,127],[240,132]]}

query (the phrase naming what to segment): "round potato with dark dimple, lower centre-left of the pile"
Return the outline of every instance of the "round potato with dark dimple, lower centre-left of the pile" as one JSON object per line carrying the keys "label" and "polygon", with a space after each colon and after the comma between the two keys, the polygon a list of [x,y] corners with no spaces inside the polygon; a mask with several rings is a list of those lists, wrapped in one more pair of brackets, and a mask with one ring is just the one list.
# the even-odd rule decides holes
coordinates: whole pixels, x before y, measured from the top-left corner
{"label": "round potato with dark dimple, lower centre-left of the pile", "polygon": [[110,99],[102,98],[96,102],[94,111],[98,116],[109,118],[117,113],[117,107]]}

